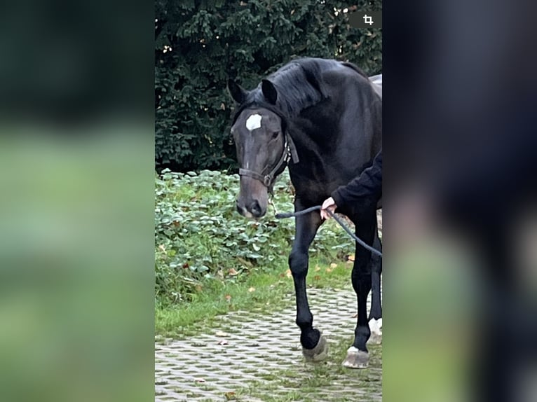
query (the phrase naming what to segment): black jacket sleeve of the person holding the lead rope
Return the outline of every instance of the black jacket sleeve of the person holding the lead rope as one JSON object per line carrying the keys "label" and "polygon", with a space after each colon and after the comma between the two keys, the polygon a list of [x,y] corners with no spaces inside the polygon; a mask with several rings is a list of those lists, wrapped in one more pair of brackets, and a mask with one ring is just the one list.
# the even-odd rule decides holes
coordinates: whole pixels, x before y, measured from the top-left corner
{"label": "black jacket sleeve of the person holding the lead rope", "polygon": [[346,186],[334,190],[331,195],[339,208],[352,207],[362,202],[376,205],[382,196],[382,150],[375,156],[373,165]]}

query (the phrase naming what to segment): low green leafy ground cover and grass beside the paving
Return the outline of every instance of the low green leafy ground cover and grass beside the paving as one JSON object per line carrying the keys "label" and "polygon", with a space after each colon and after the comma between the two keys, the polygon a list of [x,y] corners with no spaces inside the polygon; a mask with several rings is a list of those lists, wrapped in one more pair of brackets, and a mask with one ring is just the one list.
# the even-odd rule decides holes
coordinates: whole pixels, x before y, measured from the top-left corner
{"label": "low green leafy ground cover and grass beside the paving", "polygon": [[[203,170],[156,177],[156,297],[161,303],[189,300],[206,280],[236,280],[251,270],[287,267],[294,219],[266,216],[252,221],[235,210],[238,177]],[[287,171],[276,183],[278,212],[293,210]],[[353,242],[333,220],[319,230],[310,256],[351,254]]]}

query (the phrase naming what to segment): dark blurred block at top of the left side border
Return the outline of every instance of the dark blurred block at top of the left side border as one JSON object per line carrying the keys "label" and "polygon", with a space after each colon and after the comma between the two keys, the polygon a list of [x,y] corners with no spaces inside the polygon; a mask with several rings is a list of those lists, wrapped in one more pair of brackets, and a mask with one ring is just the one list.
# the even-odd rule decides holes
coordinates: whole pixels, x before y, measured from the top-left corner
{"label": "dark blurred block at top of the left side border", "polygon": [[143,29],[151,27],[150,11],[122,1],[3,7],[0,118],[151,118],[151,42]]}

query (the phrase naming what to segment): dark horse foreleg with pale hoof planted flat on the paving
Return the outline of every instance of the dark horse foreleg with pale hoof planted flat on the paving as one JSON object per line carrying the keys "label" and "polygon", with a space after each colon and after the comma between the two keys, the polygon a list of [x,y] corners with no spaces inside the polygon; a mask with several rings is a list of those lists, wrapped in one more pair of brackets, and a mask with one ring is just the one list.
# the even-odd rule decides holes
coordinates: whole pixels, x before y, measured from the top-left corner
{"label": "dark horse foreleg with pale hoof planted flat on the paving", "polygon": [[[375,220],[361,219],[356,224],[356,235],[371,245],[375,236]],[[356,245],[352,282],[358,299],[358,321],[354,331],[353,346],[349,347],[343,366],[348,368],[366,368],[369,365],[369,351],[365,344],[371,331],[367,321],[367,295],[371,291],[371,251],[360,244]]]}

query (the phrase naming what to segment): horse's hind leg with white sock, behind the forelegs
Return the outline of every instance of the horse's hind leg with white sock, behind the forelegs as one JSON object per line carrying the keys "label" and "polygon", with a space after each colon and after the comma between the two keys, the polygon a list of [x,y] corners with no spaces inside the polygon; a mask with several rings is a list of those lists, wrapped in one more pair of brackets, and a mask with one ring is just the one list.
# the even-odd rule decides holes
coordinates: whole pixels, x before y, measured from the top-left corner
{"label": "horse's hind leg with white sock, behind the forelegs", "polygon": [[[375,235],[373,247],[382,250],[378,232]],[[382,300],[381,300],[381,274],[382,258],[376,255],[371,257],[371,310],[369,311],[369,329],[371,338],[369,342],[379,345],[382,343]]]}

